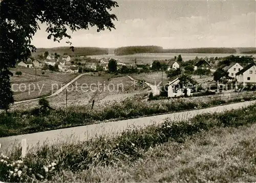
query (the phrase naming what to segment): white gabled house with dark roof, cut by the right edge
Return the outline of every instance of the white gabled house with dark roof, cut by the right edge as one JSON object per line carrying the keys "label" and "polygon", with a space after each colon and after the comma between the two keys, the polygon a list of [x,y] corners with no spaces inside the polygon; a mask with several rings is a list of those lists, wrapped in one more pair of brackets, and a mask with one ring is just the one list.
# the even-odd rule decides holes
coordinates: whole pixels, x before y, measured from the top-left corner
{"label": "white gabled house with dark roof, cut by the right edge", "polygon": [[236,74],[239,83],[256,84],[256,63],[250,63]]}

